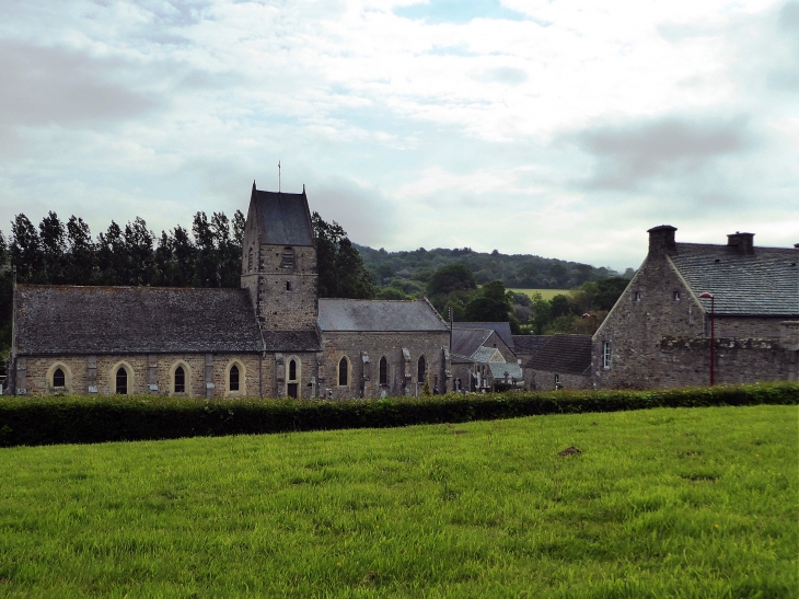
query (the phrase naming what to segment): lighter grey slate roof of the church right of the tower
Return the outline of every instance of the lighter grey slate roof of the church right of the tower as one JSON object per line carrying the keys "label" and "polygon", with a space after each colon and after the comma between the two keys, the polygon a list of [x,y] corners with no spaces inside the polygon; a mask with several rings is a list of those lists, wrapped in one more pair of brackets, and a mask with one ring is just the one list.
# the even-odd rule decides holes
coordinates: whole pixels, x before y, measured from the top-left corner
{"label": "lighter grey slate roof of the church right of the tower", "polygon": [[325,332],[449,331],[426,300],[320,299],[317,322]]}

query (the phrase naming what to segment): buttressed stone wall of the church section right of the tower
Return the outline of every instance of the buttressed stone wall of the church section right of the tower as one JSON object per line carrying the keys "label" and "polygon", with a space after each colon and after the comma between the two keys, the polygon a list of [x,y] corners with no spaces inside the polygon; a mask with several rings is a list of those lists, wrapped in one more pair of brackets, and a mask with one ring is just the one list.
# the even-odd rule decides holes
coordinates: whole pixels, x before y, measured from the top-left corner
{"label": "buttressed stone wall of the church section right of the tower", "polygon": [[[425,356],[430,389],[438,381],[441,392],[447,382],[443,348],[450,345],[449,331],[435,333],[323,333],[324,385],[332,399],[380,398],[386,395],[415,395],[417,387],[418,359]],[[408,350],[406,361],[403,348]],[[362,356],[369,357],[364,364]],[[380,385],[380,358],[389,361],[389,384]],[[338,384],[338,365],[346,357],[349,365],[347,385]],[[409,378],[406,378],[406,373]],[[322,377],[322,372],[320,373]],[[369,380],[363,380],[368,377]],[[450,381],[450,389],[452,382]],[[422,383],[418,384],[421,393]]]}

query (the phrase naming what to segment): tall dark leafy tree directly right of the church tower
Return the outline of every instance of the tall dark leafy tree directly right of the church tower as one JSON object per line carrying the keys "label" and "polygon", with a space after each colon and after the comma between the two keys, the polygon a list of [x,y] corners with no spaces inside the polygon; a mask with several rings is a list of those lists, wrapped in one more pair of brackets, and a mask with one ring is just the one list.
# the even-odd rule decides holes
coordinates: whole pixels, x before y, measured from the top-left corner
{"label": "tall dark leafy tree directly right of the church tower", "polygon": [[374,285],[358,250],[335,220],[325,222],[319,212],[311,215],[316,234],[316,268],[321,298],[369,299]]}

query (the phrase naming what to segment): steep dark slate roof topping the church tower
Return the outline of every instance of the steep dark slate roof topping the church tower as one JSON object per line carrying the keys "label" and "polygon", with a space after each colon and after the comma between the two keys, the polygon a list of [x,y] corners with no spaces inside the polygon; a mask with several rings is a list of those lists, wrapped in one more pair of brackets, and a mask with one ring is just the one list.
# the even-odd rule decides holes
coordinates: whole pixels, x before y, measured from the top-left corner
{"label": "steep dark slate roof topping the church tower", "polygon": [[253,184],[251,204],[260,243],[273,245],[313,245],[314,234],[305,192],[282,194],[260,192]]}

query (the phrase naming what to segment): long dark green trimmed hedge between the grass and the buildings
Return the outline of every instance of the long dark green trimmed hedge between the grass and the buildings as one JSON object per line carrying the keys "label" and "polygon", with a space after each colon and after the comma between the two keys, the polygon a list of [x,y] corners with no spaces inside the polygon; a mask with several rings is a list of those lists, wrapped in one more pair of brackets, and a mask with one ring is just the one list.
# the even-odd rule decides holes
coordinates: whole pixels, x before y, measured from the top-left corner
{"label": "long dark green trimmed hedge between the grass and the buildings", "polygon": [[384,400],[0,398],[0,447],[299,430],[384,428],[650,407],[799,404],[799,384],[652,391],[555,391]]}

